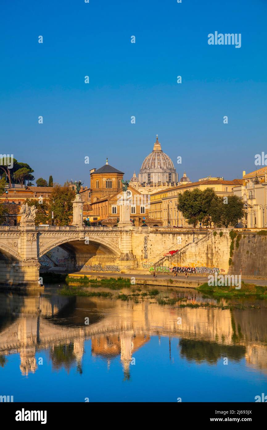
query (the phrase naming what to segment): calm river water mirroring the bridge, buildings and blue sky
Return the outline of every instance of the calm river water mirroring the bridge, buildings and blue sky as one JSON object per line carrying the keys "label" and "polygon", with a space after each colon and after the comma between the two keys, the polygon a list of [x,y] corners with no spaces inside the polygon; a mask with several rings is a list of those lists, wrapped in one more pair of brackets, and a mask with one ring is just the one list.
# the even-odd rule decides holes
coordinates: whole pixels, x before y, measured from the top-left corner
{"label": "calm river water mirroring the bridge, buildings and blue sky", "polygon": [[[194,290],[160,290],[207,302]],[[52,286],[42,294],[1,292],[0,395],[14,402],[254,402],[267,394],[267,302],[241,303],[261,309],[66,297]]]}

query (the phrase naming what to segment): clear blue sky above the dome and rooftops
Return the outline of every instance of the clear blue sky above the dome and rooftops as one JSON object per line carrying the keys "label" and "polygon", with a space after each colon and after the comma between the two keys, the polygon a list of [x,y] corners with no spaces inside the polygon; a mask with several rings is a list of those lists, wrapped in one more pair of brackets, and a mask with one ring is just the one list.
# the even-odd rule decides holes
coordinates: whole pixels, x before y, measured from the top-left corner
{"label": "clear blue sky above the dome and rooftops", "polygon": [[0,152],[89,185],[107,156],[138,173],[158,134],[179,178],[241,178],[267,152],[266,20],[266,0],[3,0]]}

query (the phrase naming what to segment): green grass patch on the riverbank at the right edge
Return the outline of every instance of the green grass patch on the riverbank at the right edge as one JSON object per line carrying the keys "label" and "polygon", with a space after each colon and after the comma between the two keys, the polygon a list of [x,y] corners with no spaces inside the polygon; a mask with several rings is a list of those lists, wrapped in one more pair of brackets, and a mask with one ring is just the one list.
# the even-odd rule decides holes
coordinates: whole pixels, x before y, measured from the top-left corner
{"label": "green grass patch on the riverbank at the right edge", "polygon": [[267,299],[267,287],[255,284],[241,283],[241,288],[237,290],[235,286],[209,286],[207,282],[197,288],[201,293],[211,295],[213,297],[247,297],[256,296],[257,298]]}

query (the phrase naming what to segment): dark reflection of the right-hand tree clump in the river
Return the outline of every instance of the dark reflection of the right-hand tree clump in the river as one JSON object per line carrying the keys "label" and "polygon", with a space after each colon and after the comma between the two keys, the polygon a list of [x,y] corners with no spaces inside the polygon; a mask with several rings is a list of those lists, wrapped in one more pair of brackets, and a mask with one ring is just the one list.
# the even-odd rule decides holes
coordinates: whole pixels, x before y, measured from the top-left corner
{"label": "dark reflection of the right-hand tree clump in the river", "polygon": [[181,339],[179,346],[181,347],[180,354],[182,357],[197,362],[216,363],[221,357],[240,361],[246,353],[244,346],[220,345],[216,344],[216,342]]}

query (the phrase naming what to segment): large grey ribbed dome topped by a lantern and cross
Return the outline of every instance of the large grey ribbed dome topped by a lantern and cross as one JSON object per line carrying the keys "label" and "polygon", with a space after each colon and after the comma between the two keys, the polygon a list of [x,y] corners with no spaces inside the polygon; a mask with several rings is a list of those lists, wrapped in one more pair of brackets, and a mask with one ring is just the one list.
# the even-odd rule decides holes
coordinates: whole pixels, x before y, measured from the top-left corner
{"label": "large grey ribbed dome topped by a lantern and cross", "polygon": [[147,155],[138,175],[141,183],[177,182],[177,173],[170,157],[165,154],[156,136],[153,151]]}

